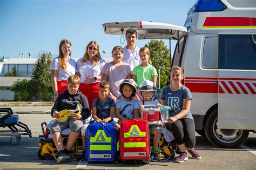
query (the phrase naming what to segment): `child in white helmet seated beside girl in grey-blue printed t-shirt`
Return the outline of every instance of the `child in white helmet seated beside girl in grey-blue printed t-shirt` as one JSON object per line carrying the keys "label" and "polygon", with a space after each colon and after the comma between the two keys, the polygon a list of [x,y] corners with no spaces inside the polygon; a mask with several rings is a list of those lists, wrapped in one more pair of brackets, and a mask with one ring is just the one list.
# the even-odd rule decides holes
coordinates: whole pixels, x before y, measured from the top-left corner
{"label": "child in white helmet seated beside girl in grey-blue printed t-shirt", "polygon": [[[161,104],[156,99],[157,87],[150,80],[145,80],[139,86],[139,93],[142,94],[143,100],[139,100],[139,110],[143,110],[143,105],[156,105],[156,107],[160,108]],[[145,108],[145,107],[144,107]],[[160,128],[156,125],[151,125],[150,130],[154,133],[153,139],[153,147],[150,153],[151,161],[158,161],[159,155],[157,152],[157,148],[159,145],[159,137],[160,137]]]}

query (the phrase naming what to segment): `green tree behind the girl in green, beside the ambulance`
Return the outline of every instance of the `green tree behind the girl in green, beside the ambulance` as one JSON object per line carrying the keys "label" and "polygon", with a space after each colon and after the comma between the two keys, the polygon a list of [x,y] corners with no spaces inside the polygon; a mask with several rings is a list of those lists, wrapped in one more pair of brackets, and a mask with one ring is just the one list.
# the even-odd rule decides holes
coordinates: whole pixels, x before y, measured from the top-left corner
{"label": "green tree behind the girl in green, beside the ambulance", "polygon": [[[169,74],[170,74],[170,53],[167,46],[164,44],[163,40],[151,40],[146,47],[150,49],[150,60],[152,61],[152,66],[157,69],[157,74],[159,74],[160,69],[160,88],[166,86]],[[157,87],[159,86],[159,75],[157,77]]]}

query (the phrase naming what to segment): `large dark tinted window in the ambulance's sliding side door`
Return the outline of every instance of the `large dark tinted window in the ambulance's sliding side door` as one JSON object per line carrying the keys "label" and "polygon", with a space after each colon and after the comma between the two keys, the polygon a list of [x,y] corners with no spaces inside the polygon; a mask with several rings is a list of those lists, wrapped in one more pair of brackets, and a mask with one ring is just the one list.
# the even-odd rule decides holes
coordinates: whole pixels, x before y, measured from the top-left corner
{"label": "large dark tinted window in the ambulance's sliding side door", "polygon": [[256,70],[255,35],[219,35],[219,68]]}

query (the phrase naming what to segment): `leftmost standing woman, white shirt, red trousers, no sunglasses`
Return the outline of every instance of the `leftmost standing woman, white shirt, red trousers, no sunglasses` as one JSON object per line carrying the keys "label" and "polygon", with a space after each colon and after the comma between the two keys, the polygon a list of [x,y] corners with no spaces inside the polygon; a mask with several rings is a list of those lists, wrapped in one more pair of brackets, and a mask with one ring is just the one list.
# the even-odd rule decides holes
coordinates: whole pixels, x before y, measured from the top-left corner
{"label": "leftmost standing woman, white shirt, red trousers, no sunglasses", "polygon": [[75,73],[76,61],[71,58],[71,42],[68,39],[63,39],[59,43],[59,56],[51,62],[53,102],[55,102],[59,94],[68,89],[66,82],[69,76],[75,75]]}

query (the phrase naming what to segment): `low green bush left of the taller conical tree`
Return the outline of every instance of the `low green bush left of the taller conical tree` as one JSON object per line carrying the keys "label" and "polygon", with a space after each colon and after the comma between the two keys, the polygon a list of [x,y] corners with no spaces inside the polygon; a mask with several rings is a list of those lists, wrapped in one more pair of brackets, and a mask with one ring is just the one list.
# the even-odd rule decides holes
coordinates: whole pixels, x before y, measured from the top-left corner
{"label": "low green bush left of the taller conical tree", "polygon": [[10,90],[14,92],[14,100],[17,101],[30,101],[31,99],[31,80],[18,79]]}

